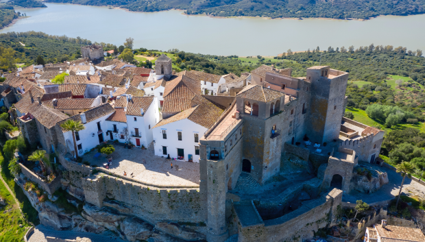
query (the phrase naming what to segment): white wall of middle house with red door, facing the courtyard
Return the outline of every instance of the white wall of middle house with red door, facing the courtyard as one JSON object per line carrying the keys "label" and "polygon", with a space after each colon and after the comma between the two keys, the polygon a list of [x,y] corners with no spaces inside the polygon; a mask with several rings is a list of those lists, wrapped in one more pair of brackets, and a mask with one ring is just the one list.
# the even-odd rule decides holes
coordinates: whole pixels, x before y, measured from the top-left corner
{"label": "white wall of middle house with red door, facing the courtyard", "polygon": [[[152,136],[152,128],[159,121],[158,99],[154,98],[151,106],[147,108],[147,111],[145,110],[145,115],[143,115],[143,117],[131,115],[126,116],[130,141],[136,145],[136,138],[138,137],[132,137],[131,134],[134,132],[134,128],[138,128],[138,132],[141,133],[141,145],[148,147],[149,144],[154,140],[154,137]],[[136,117],[136,121],[134,121],[134,117]]]}

